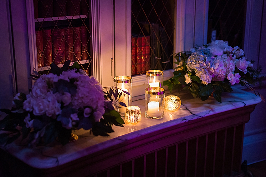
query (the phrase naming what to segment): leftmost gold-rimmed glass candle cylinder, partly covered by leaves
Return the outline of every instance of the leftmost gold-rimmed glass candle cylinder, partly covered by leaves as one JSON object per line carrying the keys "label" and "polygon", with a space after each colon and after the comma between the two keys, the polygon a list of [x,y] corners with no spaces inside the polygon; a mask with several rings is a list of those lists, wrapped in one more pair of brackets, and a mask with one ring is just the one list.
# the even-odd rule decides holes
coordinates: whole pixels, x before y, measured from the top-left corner
{"label": "leftmost gold-rimmed glass candle cylinder, partly covered by leaves", "polygon": [[[132,105],[132,77],[129,76],[116,76],[114,77],[114,87],[118,88],[119,94],[122,92],[118,102],[125,103],[126,107]],[[125,92],[129,93],[126,94]],[[120,113],[125,113],[126,107],[120,105],[121,108],[118,108]]]}

